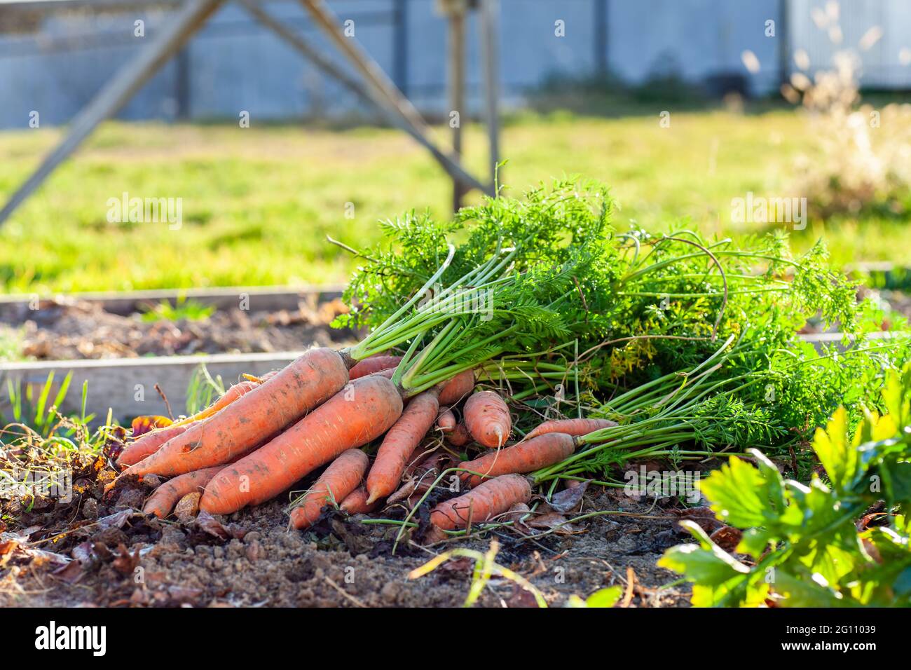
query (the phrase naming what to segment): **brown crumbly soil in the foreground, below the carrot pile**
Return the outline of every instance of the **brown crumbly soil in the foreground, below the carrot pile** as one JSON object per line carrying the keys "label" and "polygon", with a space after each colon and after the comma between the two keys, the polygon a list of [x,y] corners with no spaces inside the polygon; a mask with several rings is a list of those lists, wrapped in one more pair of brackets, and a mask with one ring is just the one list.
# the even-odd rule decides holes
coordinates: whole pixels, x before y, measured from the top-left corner
{"label": "brown crumbly soil in the foreground, below the carrot pile", "polygon": [[[664,549],[687,539],[679,516],[664,507],[676,503],[618,490],[589,489],[581,510],[647,518],[596,517],[578,522],[574,534],[534,540],[496,531],[433,550],[406,541],[395,555],[397,527],[334,510],[311,531],[289,531],[278,500],[228,518],[159,521],[136,511],[148,495],[144,484],[118,485],[113,504],[97,500],[99,493],[100,483],[68,506],[37,500],[29,511],[7,508],[18,526],[0,535],[0,606],[460,606],[473,562],[448,562],[416,580],[408,572],[444,549],[486,551],[494,538],[496,561],[532,582],[550,606],[614,584],[626,591],[630,576],[630,606],[688,603],[688,589],[663,586],[676,576],[655,565]],[[477,604],[535,600],[494,579]]]}

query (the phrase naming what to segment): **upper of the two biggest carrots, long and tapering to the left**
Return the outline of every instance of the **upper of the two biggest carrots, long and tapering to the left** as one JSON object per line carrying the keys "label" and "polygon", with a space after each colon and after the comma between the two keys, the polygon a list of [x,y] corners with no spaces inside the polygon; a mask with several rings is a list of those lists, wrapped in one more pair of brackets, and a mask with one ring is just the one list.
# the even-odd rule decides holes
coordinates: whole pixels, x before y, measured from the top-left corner
{"label": "upper of the two biggest carrots, long and tapering to the left", "polygon": [[226,463],[333,397],[347,381],[342,356],[333,349],[311,349],[215,416],[191,424],[121,476],[179,475]]}

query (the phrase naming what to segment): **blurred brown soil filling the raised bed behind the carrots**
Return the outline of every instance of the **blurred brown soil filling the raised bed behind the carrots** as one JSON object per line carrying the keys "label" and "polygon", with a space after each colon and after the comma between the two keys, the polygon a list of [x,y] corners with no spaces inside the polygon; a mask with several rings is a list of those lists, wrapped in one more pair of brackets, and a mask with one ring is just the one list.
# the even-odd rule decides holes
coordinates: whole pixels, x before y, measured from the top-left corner
{"label": "blurred brown soil filling the raised bed behind the carrots", "polygon": [[21,356],[36,360],[297,351],[353,340],[351,331],[329,326],[345,311],[333,300],[280,312],[231,309],[200,320],[148,321],[111,314],[95,302],[45,300],[36,310],[0,312],[0,338],[12,332],[21,339]]}

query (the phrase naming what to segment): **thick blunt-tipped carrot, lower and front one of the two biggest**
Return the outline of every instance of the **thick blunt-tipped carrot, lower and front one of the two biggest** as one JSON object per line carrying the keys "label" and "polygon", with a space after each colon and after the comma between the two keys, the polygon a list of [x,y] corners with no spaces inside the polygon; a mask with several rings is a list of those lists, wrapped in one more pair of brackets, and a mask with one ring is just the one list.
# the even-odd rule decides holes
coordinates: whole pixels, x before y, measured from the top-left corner
{"label": "thick blunt-tipped carrot, lower and front one of the two biggest", "polygon": [[291,428],[212,479],[200,510],[229,514],[288,489],[350,448],[383,435],[402,414],[402,396],[380,375],[362,376]]}

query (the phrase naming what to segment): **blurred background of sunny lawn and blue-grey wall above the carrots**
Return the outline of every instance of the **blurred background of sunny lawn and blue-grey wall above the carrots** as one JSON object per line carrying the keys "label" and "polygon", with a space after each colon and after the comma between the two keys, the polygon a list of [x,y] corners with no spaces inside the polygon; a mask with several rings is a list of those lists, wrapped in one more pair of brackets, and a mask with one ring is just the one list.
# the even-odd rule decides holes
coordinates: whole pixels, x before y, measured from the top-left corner
{"label": "blurred background of sunny lawn and blue-grey wall above the carrots", "polygon": [[[0,201],[204,4],[0,2]],[[363,73],[307,3],[211,5],[0,225],[0,292],[343,282],[355,261],[327,235],[363,248],[378,220],[451,213],[454,180],[343,82]],[[315,5],[483,185],[507,160],[514,194],[568,174],[604,181],[619,228],[785,230],[799,250],[824,239],[842,266],[911,264],[903,0]],[[127,197],[179,201],[179,225],[111,221],[111,199]],[[732,203],[752,197],[805,198],[806,225],[744,221]]]}

